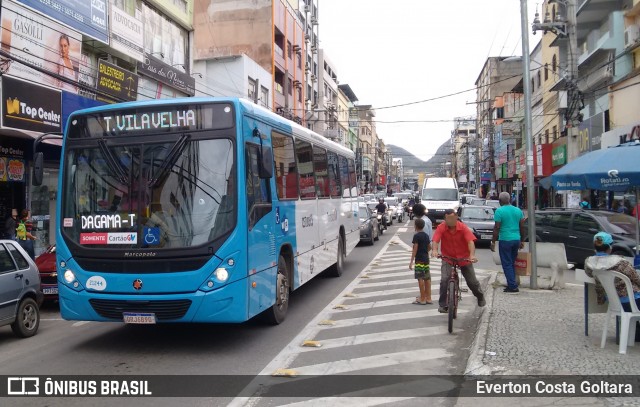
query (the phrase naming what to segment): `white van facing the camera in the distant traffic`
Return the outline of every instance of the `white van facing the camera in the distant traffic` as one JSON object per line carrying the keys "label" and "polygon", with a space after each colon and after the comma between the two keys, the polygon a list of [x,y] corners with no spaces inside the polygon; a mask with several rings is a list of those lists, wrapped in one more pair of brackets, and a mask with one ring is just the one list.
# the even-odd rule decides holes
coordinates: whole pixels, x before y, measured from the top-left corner
{"label": "white van facing the camera in the distant traffic", "polygon": [[432,177],[424,181],[420,203],[427,208],[427,216],[434,224],[444,220],[445,209],[460,209],[458,183],[455,178]]}

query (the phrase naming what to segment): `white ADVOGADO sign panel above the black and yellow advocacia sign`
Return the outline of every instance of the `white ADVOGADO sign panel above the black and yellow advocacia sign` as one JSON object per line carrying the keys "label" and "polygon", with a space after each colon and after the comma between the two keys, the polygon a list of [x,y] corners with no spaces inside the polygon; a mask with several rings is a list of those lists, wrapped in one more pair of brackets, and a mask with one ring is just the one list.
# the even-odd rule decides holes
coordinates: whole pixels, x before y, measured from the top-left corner
{"label": "white ADVOGADO sign panel above the black and yellow advocacia sign", "polygon": [[144,62],[143,28],[142,21],[111,7],[111,47],[140,62]]}

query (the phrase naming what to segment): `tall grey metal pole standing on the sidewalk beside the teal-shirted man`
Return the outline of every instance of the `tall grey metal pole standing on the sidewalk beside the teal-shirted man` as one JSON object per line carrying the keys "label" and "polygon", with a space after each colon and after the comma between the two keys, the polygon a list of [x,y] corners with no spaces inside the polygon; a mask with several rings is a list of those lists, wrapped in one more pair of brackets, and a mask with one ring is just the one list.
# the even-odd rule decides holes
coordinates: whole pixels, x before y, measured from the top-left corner
{"label": "tall grey metal pole standing on the sidewalk beside the teal-shirted man", "polygon": [[536,262],[536,222],[535,191],[533,179],[533,135],[531,134],[531,72],[529,71],[529,23],[527,19],[527,0],[520,0],[520,18],[522,30],[522,61],[524,85],[524,132],[527,150],[527,217],[529,222],[529,252],[531,253],[530,288],[538,288],[538,268]]}

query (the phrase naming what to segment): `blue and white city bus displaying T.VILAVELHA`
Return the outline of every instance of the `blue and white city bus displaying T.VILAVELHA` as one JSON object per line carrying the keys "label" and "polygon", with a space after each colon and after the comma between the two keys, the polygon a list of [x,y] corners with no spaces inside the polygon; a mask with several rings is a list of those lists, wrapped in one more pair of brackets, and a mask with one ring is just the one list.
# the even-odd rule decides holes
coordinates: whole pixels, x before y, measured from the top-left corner
{"label": "blue and white city bus displaying T.VILAVELHA", "polygon": [[58,191],[66,320],[277,324],[360,239],[353,152],[238,98],[73,113]]}

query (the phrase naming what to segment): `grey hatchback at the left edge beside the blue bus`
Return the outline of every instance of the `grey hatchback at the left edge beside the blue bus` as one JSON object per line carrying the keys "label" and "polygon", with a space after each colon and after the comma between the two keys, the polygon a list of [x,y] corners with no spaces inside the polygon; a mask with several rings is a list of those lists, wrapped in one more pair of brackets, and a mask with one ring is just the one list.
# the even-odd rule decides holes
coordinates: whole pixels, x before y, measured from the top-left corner
{"label": "grey hatchback at the left edge beside the blue bus", "polygon": [[0,240],[0,326],[27,338],[40,326],[40,276],[27,252],[14,240]]}

